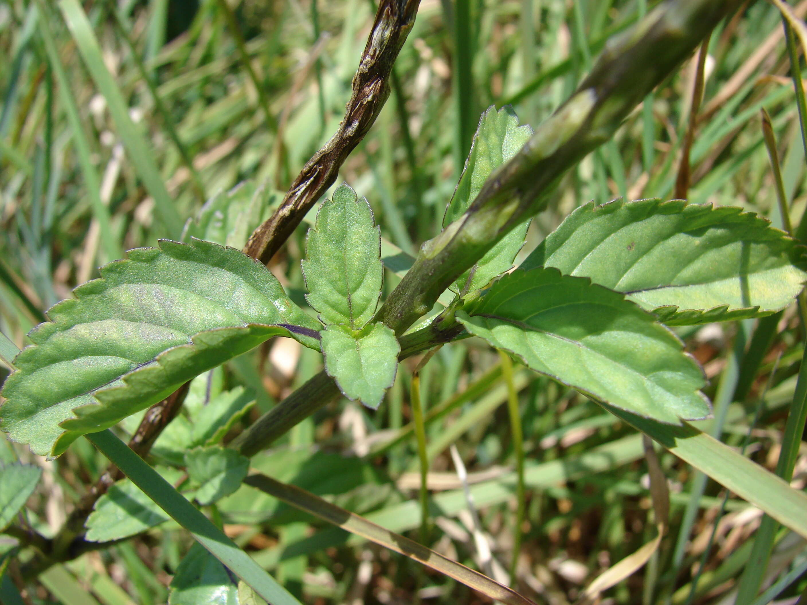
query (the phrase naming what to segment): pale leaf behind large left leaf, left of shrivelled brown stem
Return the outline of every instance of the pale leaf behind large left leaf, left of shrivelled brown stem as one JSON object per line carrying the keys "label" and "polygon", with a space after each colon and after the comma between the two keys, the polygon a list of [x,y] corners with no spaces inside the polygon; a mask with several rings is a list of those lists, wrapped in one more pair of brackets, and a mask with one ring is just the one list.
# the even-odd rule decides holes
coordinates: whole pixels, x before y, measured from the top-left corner
{"label": "pale leaf behind large left leaf, left of shrivelled brown stem", "polygon": [[196,217],[185,223],[182,241],[196,238],[243,248],[255,228],[269,218],[280,198],[276,191],[244,181],[207,200]]}

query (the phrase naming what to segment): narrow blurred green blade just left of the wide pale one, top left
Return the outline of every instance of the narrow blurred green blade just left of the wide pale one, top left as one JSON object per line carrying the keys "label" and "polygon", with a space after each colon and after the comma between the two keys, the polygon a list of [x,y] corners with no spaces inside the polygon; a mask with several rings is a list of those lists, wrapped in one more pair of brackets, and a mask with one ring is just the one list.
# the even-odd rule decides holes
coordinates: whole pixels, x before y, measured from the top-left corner
{"label": "narrow blurred green blade just left of the wide pale one, top left", "polygon": [[73,94],[70,91],[70,80],[65,73],[65,68],[61,65],[59,52],[56,49],[56,41],[50,27],[50,15],[44,8],[42,2],[39,4],[40,10],[43,11],[44,18],[40,23],[40,35],[45,46],[45,52],[48,55],[48,62],[56,75],[56,81],[59,84],[59,97],[70,126],[73,131],[73,144],[76,148],[78,156],[78,164],[82,168],[84,175],[84,184],[87,195],[90,196],[90,205],[93,208],[93,216],[98,221],[98,229],[100,230],[101,241],[104,253],[107,255],[107,261],[114,261],[115,259],[123,257],[123,249],[118,244],[118,238],[115,237],[115,232],[112,230],[111,217],[109,209],[101,200],[101,180],[98,178],[98,172],[91,159],[92,151],[90,150],[90,143],[86,138],[84,127],[82,126],[82,119],[78,114],[78,106]]}

